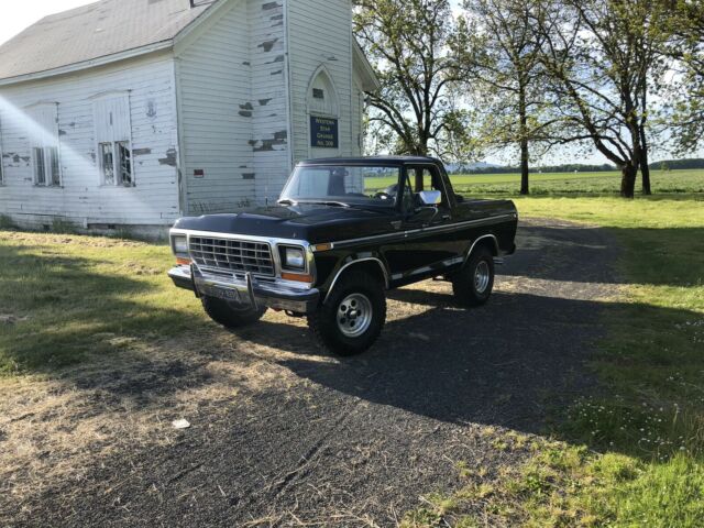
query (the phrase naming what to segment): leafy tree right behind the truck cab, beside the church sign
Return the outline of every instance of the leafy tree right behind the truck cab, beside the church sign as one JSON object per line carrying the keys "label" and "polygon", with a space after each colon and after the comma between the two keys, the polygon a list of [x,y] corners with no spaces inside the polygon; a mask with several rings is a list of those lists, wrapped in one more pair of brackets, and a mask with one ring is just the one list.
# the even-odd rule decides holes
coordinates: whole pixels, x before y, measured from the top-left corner
{"label": "leafy tree right behind the truck cab, beside the church sign", "polygon": [[367,94],[377,148],[468,160],[457,23],[448,0],[356,0],[354,34],[381,90]]}

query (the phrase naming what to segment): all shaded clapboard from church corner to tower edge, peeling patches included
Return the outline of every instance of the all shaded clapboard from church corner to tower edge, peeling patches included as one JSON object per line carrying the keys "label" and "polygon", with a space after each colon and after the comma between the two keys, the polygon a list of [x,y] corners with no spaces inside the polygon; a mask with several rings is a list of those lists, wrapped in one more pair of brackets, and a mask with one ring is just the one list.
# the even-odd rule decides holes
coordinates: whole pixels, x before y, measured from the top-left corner
{"label": "all shaded clapboard from church corner to tower edge, peeling patches included", "polygon": [[190,215],[277,197],[288,176],[280,16],[280,3],[233,0],[217,22],[177,50]]}

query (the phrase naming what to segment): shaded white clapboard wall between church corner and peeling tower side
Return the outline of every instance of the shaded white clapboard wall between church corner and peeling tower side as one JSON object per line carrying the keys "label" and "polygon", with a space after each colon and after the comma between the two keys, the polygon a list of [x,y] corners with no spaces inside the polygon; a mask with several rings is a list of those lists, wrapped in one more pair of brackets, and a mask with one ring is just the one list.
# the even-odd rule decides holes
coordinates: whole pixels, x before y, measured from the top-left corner
{"label": "shaded white clapboard wall between church corner and peeling tower side", "polygon": [[[246,3],[233,0],[187,46],[176,48],[178,106],[188,215],[221,212],[253,201],[249,24]],[[195,172],[202,170],[204,177]]]}

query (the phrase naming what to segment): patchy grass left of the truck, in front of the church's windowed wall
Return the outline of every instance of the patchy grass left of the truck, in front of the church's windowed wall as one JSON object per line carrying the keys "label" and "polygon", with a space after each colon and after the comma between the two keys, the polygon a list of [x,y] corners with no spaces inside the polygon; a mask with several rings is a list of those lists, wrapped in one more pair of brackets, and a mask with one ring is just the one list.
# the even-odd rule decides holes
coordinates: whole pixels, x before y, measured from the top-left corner
{"label": "patchy grass left of the truck, in front of the church's windowed wall", "polygon": [[[0,231],[0,375],[46,372],[205,322],[175,296],[166,245]],[[113,338],[103,339],[106,336]]]}

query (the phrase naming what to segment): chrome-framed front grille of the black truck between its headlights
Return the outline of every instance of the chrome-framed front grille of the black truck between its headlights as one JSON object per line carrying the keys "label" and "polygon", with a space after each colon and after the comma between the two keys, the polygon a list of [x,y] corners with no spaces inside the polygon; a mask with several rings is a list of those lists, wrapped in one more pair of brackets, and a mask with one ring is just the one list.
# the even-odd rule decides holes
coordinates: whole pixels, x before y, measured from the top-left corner
{"label": "chrome-framed front grille of the black truck between its headlights", "polygon": [[189,249],[199,267],[274,276],[272,248],[266,242],[190,237]]}

